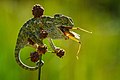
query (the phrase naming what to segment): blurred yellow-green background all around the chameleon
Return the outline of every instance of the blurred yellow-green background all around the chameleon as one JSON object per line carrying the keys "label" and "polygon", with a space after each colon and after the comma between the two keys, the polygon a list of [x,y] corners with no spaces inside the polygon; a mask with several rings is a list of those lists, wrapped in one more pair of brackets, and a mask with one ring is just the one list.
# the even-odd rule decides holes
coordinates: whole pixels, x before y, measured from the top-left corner
{"label": "blurred yellow-green background all around the chameleon", "polygon": [[[0,80],[37,80],[37,71],[23,70],[15,62],[14,48],[21,26],[33,17],[34,4],[41,4],[44,15],[62,13],[70,16],[75,27],[92,31],[81,35],[82,47],[76,59],[78,43],[54,40],[66,50],[63,58],[53,53],[43,55],[41,80],[120,80],[120,1],[119,0],[4,0],[0,1]],[[45,44],[49,43],[47,40]],[[31,48],[21,57],[31,64]]]}

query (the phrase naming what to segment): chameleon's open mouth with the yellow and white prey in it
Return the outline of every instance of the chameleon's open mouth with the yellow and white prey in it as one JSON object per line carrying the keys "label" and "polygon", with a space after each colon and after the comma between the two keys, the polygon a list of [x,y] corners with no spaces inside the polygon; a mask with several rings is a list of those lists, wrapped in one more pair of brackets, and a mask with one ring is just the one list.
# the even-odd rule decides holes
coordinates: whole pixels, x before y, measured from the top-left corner
{"label": "chameleon's open mouth with the yellow and white prey in it", "polygon": [[72,27],[64,27],[64,26],[61,26],[59,27],[60,30],[64,33],[64,35],[78,43],[80,43],[79,39],[80,39],[80,35],[73,32],[73,31],[70,31],[70,29],[72,29]]}

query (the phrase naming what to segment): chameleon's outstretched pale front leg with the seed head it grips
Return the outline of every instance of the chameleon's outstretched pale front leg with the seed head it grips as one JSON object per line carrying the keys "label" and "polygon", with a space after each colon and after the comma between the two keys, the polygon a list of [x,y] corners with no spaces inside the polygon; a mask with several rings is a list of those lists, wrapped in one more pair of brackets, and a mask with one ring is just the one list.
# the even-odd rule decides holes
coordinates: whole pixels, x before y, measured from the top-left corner
{"label": "chameleon's outstretched pale front leg with the seed head it grips", "polygon": [[50,46],[52,47],[54,53],[56,53],[57,56],[59,56],[60,58],[62,56],[64,56],[65,51],[63,49],[56,47],[51,38],[48,38],[48,41],[49,41]]}

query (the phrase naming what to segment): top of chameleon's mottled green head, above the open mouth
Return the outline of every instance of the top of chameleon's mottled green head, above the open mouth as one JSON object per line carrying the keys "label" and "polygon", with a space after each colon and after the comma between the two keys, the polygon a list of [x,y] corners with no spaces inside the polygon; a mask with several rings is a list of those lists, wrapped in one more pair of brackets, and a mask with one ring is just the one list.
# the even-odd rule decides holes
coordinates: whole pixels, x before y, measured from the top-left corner
{"label": "top of chameleon's mottled green head, above the open mouth", "polygon": [[57,26],[64,26],[64,27],[71,27],[71,28],[74,26],[72,19],[62,14],[54,15],[54,24]]}

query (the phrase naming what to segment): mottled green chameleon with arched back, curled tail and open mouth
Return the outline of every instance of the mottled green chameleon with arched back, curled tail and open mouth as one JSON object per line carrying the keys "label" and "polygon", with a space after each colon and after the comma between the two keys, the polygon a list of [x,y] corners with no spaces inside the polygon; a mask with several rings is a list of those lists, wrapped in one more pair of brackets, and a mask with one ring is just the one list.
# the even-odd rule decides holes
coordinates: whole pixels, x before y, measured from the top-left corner
{"label": "mottled green chameleon with arched back, curled tail and open mouth", "polygon": [[[16,47],[15,47],[15,59],[16,62],[26,70],[36,70],[38,66],[35,67],[25,65],[20,59],[20,50],[25,46],[31,46],[28,39],[32,40],[37,45],[42,45],[40,36],[41,29],[46,30],[48,33],[48,41],[55,51],[55,45],[52,42],[52,39],[68,39],[69,35],[79,40],[79,35],[70,32],[69,29],[72,29],[74,26],[71,18],[56,14],[54,17],[43,16],[41,18],[32,18],[28,20],[20,29],[18,34]],[[68,33],[69,35],[67,35]]]}

